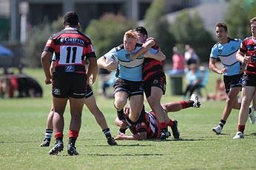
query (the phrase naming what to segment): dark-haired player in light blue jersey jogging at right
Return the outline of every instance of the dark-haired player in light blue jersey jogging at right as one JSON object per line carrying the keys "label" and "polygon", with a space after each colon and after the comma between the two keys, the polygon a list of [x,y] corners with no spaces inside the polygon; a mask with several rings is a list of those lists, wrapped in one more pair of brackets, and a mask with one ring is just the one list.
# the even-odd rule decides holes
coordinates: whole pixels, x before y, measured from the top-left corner
{"label": "dark-haired player in light blue jersey jogging at right", "polygon": [[[226,120],[232,111],[232,108],[239,110],[241,104],[238,103],[238,93],[242,87],[243,68],[242,65],[236,59],[236,53],[240,48],[240,39],[232,39],[228,37],[228,29],[226,23],[218,23],[215,26],[215,33],[218,37],[218,43],[212,47],[212,52],[209,59],[209,68],[215,73],[223,74],[223,81],[225,83],[226,90],[226,105],[224,107],[219,124],[212,128],[212,131],[216,134],[220,134],[223,130],[223,126],[226,124]],[[220,59],[223,68],[218,68],[216,65],[217,59]],[[254,123],[254,108],[249,107],[249,114],[251,123]]]}

